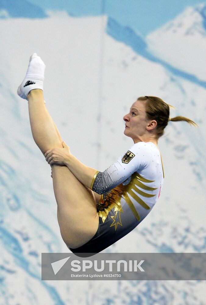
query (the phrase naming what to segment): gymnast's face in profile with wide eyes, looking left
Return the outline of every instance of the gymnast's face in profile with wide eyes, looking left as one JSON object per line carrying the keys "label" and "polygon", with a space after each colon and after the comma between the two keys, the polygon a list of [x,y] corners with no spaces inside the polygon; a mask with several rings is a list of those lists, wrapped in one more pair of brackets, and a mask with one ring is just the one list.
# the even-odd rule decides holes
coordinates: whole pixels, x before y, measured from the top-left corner
{"label": "gymnast's face in profile with wide eyes, looking left", "polygon": [[124,134],[133,139],[134,143],[142,141],[148,120],[146,119],[145,102],[137,100],[130,108],[130,112],[123,117],[125,121]]}

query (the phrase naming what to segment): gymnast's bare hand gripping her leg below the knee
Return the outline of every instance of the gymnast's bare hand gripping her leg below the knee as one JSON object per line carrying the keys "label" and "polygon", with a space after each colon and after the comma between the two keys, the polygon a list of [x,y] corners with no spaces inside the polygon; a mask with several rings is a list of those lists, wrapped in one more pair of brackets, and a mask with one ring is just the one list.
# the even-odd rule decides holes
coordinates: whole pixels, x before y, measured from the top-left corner
{"label": "gymnast's bare hand gripping her leg below the knee", "polygon": [[44,157],[46,158],[46,161],[49,163],[49,165],[54,163],[65,165],[71,152],[69,146],[67,146],[64,141],[62,142],[62,146],[63,148],[53,148],[45,152]]}

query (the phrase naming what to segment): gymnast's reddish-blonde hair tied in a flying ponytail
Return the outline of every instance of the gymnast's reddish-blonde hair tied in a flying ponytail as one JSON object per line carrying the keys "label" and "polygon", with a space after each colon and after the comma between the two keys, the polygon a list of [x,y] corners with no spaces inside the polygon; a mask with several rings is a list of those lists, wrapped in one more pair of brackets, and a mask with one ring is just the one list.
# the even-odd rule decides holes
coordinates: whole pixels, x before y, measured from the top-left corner
{"label": "gymnast's reddish-blonde hair tied in a flying ponytail", "polygon": [[193,125],[195,127],[199,126],[193,120],[188,119],[187,117],[169,117],[169,107],[175,108],[160,99],[156,96],[140,96],[137,100],[146,102],[146,117],[148,120],[156,120],[156,135],[157,137],[161,137],[164,134],[164,129],[167,126],[169,121],[177,122],[177,121],[186,121],[188,124]]}

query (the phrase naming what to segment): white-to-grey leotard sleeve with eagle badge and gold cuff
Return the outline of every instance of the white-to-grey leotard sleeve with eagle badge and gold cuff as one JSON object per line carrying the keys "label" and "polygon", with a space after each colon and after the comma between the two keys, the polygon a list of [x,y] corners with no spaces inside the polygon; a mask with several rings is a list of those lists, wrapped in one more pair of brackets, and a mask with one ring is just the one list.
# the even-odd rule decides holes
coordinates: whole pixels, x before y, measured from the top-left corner
{"label": "white-to-grey leotard sleeve with eagle badge and gold cuff", "polygon": [[96,171],[91,189],[103,194],[126,181],[135,171],[148,166],[151,160],[151,149],[145,142],[133,144],[130,149],[104,172]]}

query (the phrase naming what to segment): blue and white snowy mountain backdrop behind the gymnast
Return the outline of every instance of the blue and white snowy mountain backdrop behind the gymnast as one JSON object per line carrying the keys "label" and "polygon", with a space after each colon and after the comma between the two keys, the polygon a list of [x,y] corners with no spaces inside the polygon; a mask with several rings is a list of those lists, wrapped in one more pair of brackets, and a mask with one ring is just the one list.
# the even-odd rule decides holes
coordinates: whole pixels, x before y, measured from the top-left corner
{"label": "blue and white snowy mountain backdrop behind the gymnast", "polygon": [[0,304],[206,304],[205,281],[41,281],[41,253],[69,252],[51,168],[16,90],[29,57],[46,64],[44,98],[63,140],[105,170],[133,145],[123,116],[142,95],[170,105],[158,146],[165,180],[152,212],[104,252],[206,250],[206,3],[0,0]]}

